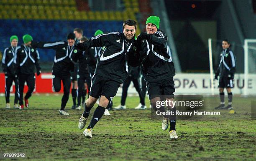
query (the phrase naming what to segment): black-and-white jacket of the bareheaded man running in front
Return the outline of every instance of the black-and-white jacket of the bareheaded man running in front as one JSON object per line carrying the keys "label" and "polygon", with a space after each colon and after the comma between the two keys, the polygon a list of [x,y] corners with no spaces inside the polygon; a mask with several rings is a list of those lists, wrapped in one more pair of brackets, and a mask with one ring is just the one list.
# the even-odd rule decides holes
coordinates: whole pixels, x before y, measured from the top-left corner
{"label": "black-and-white jacket of the bareheaded man running in front", "polygon": [[125,55],[134,43],[134,37],[126,40],[123,33],[113,32],[92,37],[84,43],[77,44],[77,48],[86,50],[91,47],[105,46],[97,60],[95,74],[123,83],[128,73],[128,63]]}

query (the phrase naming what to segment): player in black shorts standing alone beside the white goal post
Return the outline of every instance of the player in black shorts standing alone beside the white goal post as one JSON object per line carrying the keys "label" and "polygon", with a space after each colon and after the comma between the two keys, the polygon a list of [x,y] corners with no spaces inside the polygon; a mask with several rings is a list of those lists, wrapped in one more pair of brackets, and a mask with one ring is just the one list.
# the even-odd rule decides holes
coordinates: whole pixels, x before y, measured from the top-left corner
{"label": "player in black shorts standing alone beside the white goal post", "polygon": [[[219,79],[219,91],[220,91],[220,105],[215,107],[215,109],[233,109],[232,107],[232,98],[233,94],[231,88],[233,88],[234,74],[236,71],[236,56],[233,51],[229,49],[230,43],[228,40],[222,41],[223,51],[220,53],[220,63],[215,73],[215,79]],[[224,88],[228,92],[228,106],[225,107],[224,101]]]}

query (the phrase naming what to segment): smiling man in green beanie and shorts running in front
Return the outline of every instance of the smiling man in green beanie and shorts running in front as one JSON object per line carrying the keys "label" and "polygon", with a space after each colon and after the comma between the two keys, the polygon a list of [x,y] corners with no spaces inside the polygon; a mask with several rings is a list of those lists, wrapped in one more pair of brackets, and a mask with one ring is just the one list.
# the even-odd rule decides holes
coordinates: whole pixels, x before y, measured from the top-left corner
{"label": "smiling man in green beanie and shorts running in front", "polygon": [[[172,62],[171,51],[167,49],[167,35],[159,30],[160,18],[150,16],[146,20],[146,32],[142,32],[137,38],[137,46],[140,50],[139,58],[143,61],[143,77],[146,80],[147,91],[151,106],[155,111],[165,111],[164,106],[159,109],[156,104],[160,101],[173,101],[174,88],[174,64]],[[164,99],[163,97],[165,96]],[[169,126],[170,138],[178,138],[176,134],[176,107],[173,104],[167,106],[170,111],[174,111],[174,115],[164,115],[162,121],[162,129],[166,130]]]}

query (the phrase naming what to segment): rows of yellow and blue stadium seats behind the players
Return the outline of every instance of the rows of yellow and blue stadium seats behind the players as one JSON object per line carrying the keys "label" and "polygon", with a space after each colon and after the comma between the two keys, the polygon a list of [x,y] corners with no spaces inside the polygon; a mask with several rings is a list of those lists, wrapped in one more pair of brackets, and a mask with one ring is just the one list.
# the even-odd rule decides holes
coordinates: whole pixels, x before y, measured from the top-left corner
{"label": "rows of yellow and blue stadium seats behind the players", "polygon": [[[66,40],[74,28],[82,28],[92,37],[96,29],[122,32],[120,25],[128,18],[136,20],[138,0],[123,0],[123,10],[92,11],[87,0],[0,0],[0,50],[9,45],[10,35],[29,33],[34,40]],[[40,31],[40,32],[38,32]],[[136,35],[140,33],[138,26]],[[22,44],[20,39],[19,45]],[[52,61],[54,51],[39,50],[41,61]]]}

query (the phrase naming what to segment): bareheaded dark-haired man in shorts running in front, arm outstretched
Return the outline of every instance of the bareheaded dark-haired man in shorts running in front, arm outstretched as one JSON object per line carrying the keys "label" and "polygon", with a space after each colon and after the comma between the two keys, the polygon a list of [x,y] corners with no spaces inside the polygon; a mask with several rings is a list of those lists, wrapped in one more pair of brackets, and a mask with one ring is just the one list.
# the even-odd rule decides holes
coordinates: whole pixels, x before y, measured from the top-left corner
{"label": "bareheaded dark-haired man in shorts running in front, arm outstretched", "polygon": [[95,109],[89,126],[84,130],[84,136],[88,138],[92,138],[92,128],[100,120],[108,103],[115,97],[120,84],[127,76],[128,63],[125,60],[125,54],[129,52],[135,41],[136,25],[136,21],[126,20],[123,23],[123,33],[101,34],[77,44],[80,50],[105,46],[98,59],[95,74],[92,76],[90,96],[86,100],[85,110],[78,124],[80,129],[84,128],[91,108],[101,96],[99,106]]}

